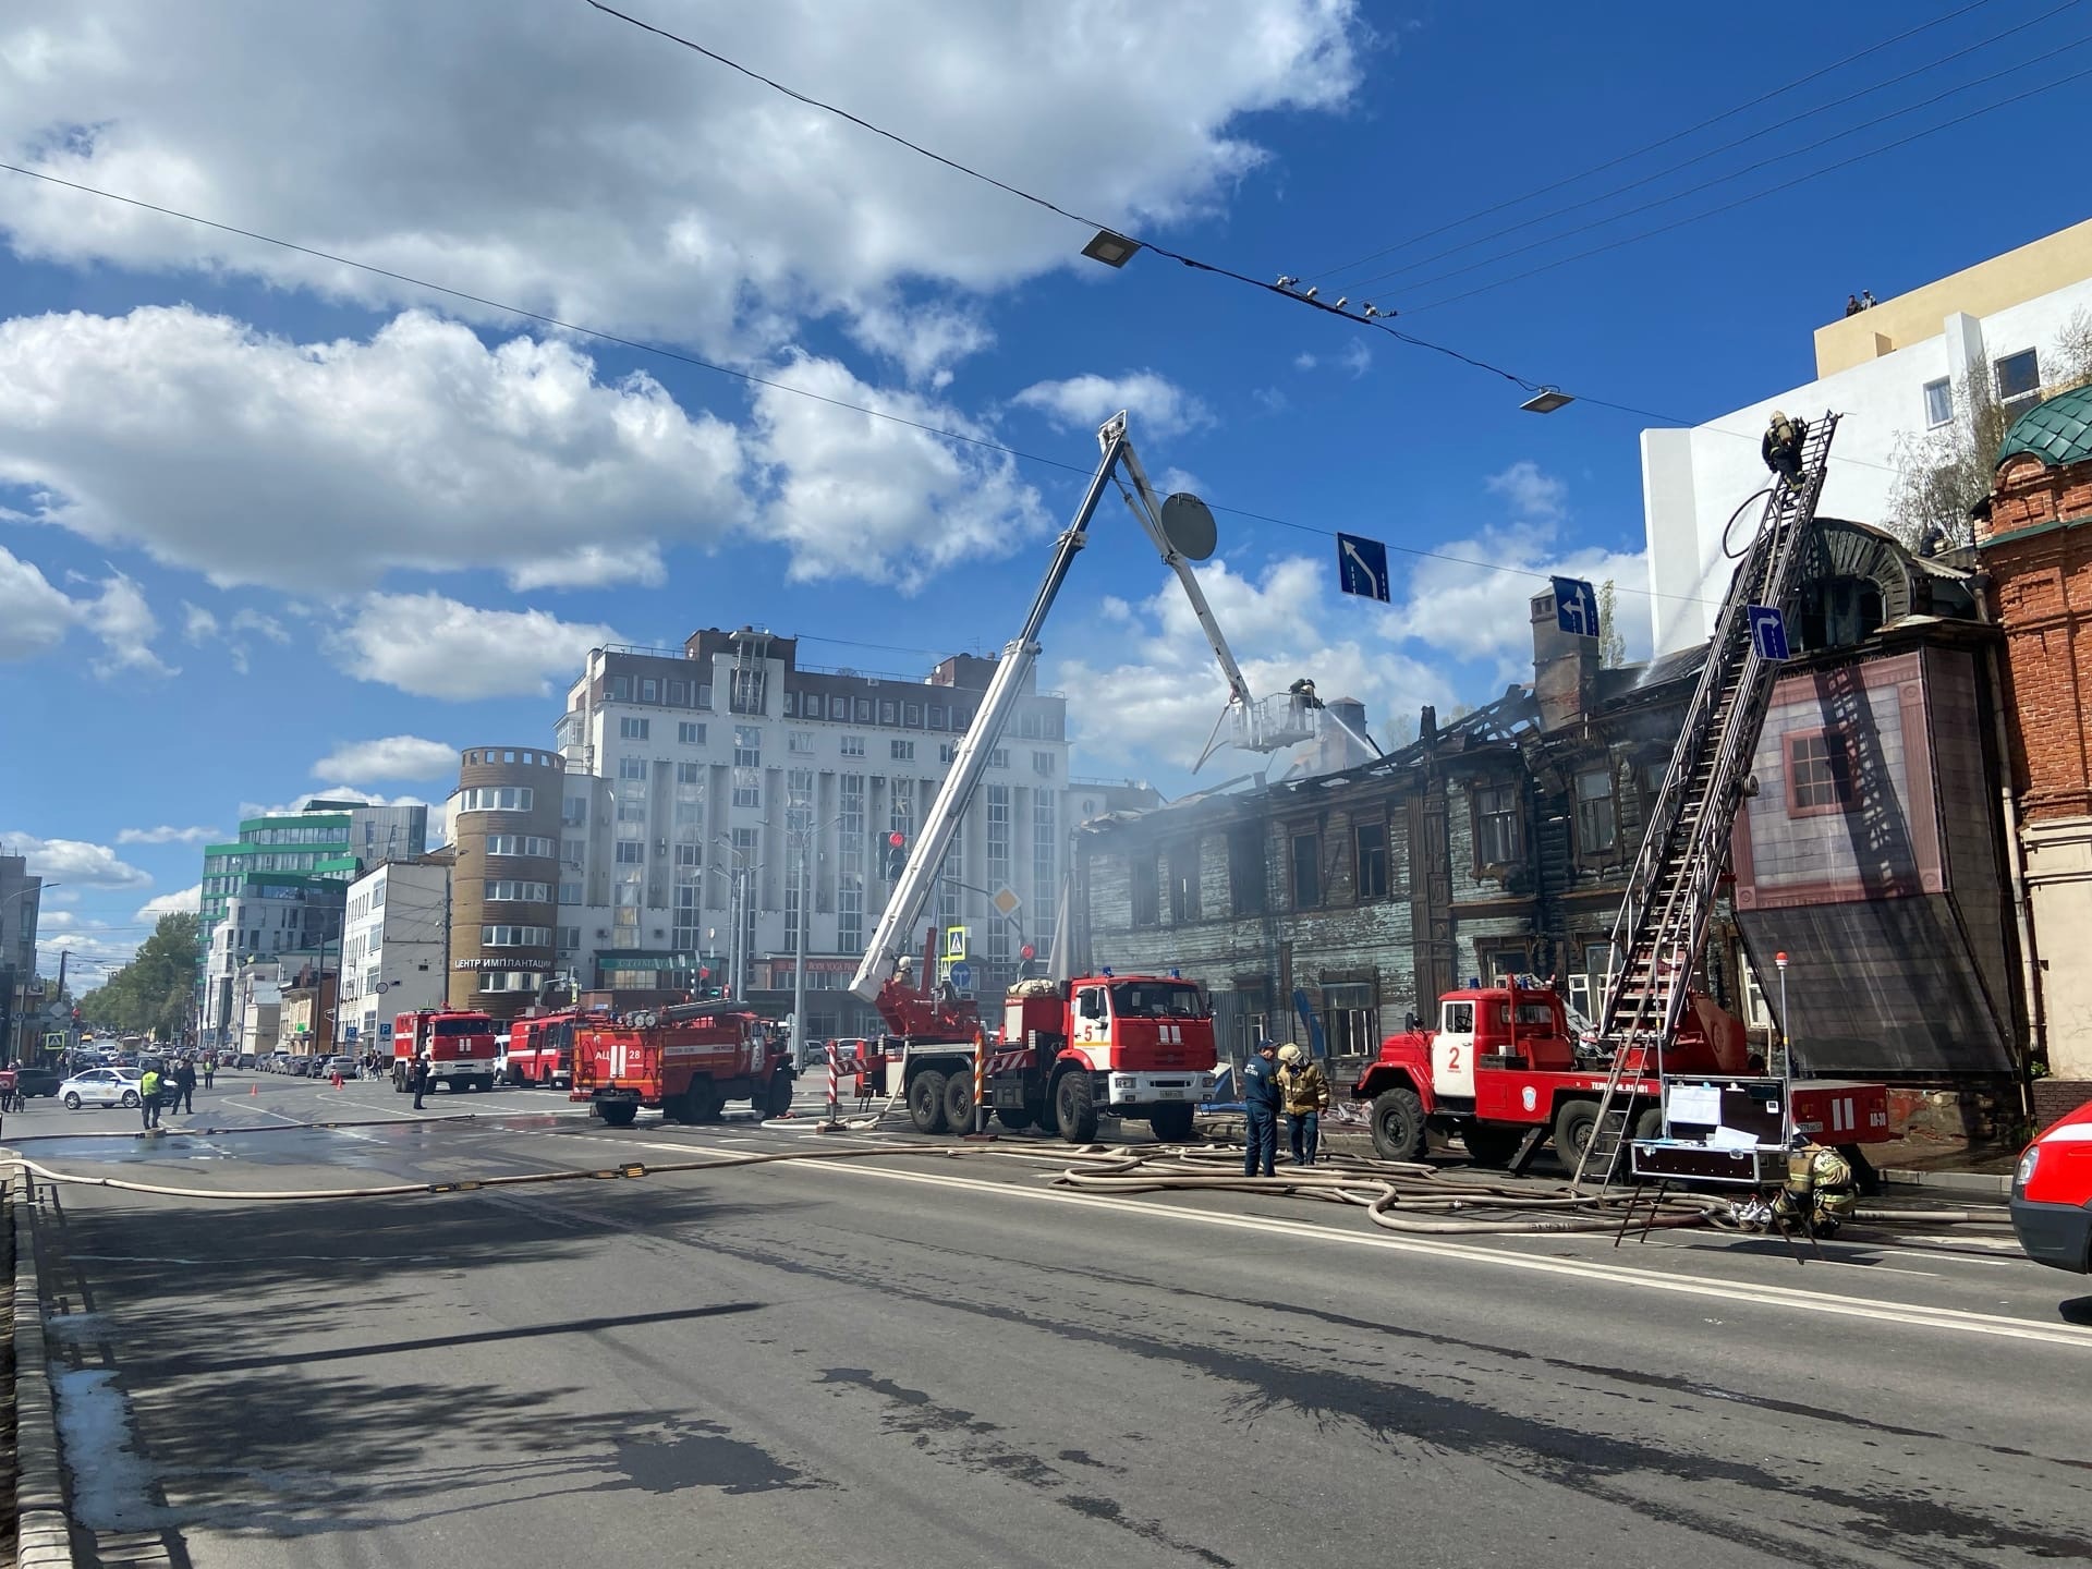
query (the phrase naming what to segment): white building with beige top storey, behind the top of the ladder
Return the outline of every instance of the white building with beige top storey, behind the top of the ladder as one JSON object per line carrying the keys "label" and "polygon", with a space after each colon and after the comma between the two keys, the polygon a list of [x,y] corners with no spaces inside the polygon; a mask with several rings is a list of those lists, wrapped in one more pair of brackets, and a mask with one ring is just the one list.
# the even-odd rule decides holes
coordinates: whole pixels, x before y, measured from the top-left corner
{"label": "white building with beige top storey, behind the top of the ladder", "polygon": [[[1816,328],[1816,381],[1759,397],[1692,429],[1642,431],[1642,513],[1659,655],[1713,632],[1732,561],[1722,531],[1766,483],[1759,439],[1778,408],[1841,414],[1818,513],[1891,525],[1900,456],[1966,418],[1958,397],[1981,379],[2006,414],[2040,402],[2059,347],[2092,326],[2092,220],[1883,299]],[[1741,550],[1755,506],[1736,521]]]}

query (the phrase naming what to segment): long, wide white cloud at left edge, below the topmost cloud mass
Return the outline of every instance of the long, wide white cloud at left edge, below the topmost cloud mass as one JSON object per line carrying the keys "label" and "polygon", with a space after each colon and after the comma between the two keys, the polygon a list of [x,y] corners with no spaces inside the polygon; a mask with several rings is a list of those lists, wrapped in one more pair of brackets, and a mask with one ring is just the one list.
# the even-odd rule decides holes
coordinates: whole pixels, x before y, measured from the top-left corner
{"label": "long, wide white cloud at left edge, below the topmost cloud mass", "polygon": [[[423,312],[368,341],[303,345],[186,305],[0,324],[0,481],[33,492],[38,521],[218,586],[356,590],[391,567],[554,586],[577,563],[586,582],[646,579],[651,544],[577,556],[577,523],[718,542],[747,513],[738,477],[734,429],[684,414],[649,377],[607,385],[565,343],[487,347]],[[132,594],[105,584],[117,611]],[[215,628],[188,615],[195,640]],[[236,632],[285,640],[257,611],[234,615]],[[111,653],[140,663],[136,638]]]}

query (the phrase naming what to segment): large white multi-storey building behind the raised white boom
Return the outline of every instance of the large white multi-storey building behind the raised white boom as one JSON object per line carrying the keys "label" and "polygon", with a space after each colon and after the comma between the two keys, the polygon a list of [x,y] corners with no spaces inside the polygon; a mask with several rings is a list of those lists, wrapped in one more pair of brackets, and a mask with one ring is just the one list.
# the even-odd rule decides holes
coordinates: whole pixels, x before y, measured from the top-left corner
{"label": "large white multi-storey building behind the raised white boom", "polygon": [[[879,1029],[845,987],[891,891],[889,837],[914,843],[992,674],[973,655],[923,678],[820,669],[753,628],[592,651],[556,730],[561,967],[615,990],[720,983],[738,964],[774,1002],[793,983],[805,854],[808,1038]],[[1027,690],[925,916],[969,929],[979,992],[1050,943],[1067,761],[1067,699]]]}

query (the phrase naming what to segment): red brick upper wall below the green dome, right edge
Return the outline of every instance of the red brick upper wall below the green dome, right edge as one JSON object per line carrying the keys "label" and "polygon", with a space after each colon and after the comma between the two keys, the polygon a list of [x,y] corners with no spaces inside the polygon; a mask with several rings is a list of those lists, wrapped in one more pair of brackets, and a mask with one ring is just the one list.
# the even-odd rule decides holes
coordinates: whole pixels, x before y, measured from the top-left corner
{"label": "red brick upper wall below the green dome, right edge", "polygon": [[[2061,527],[2044,527],[2061,525]],[[2019,456],[1977,525],[2006,636],[2013,772],[2027,822],[2092,814],[2092,462]]]}

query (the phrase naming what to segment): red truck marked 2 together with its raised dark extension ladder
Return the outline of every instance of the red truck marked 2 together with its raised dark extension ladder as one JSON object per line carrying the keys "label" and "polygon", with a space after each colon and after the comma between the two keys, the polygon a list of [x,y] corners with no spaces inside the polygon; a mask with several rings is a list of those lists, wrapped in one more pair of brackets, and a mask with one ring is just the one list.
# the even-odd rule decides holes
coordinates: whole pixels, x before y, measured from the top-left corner
{"label": "red truck marked 2 together with its raised dark extension ladder", "polygon": [[[1699,688],[1672,749],[1628,893],[1613,923],[1611,977],[1592,1031],[1569,1027],[1561,996],[1531,977],[1448,992],[1435,1029],[1381,1042],[1351,1086],[1370,1102],[1372,1146],[1416,1161],[1427,1132],[1458,1132],[1479,1165],[1523,1169],[1552,1136],[1575,1182],[1605,1184],[1634,1140],[1665,1132],[1663,1077],[1764,1073],[1743,1023],[1692,985],[1707,946],[1751,759],[1780,676],[1753,640],[1753,611],[1793,613],[1837,414],[1807,433],[1797,483],[1774,481],[1736,565]],[[1782,956],[1784,958],[1784,956]],[[1782,1021],[1784,1025],[1784,1021]],[[1795,1132],[1841,1149],[1889,1138],[1883,1084],[1793,1079]],[[1854,1159],[1864,1169],[1864,1161]]]}

